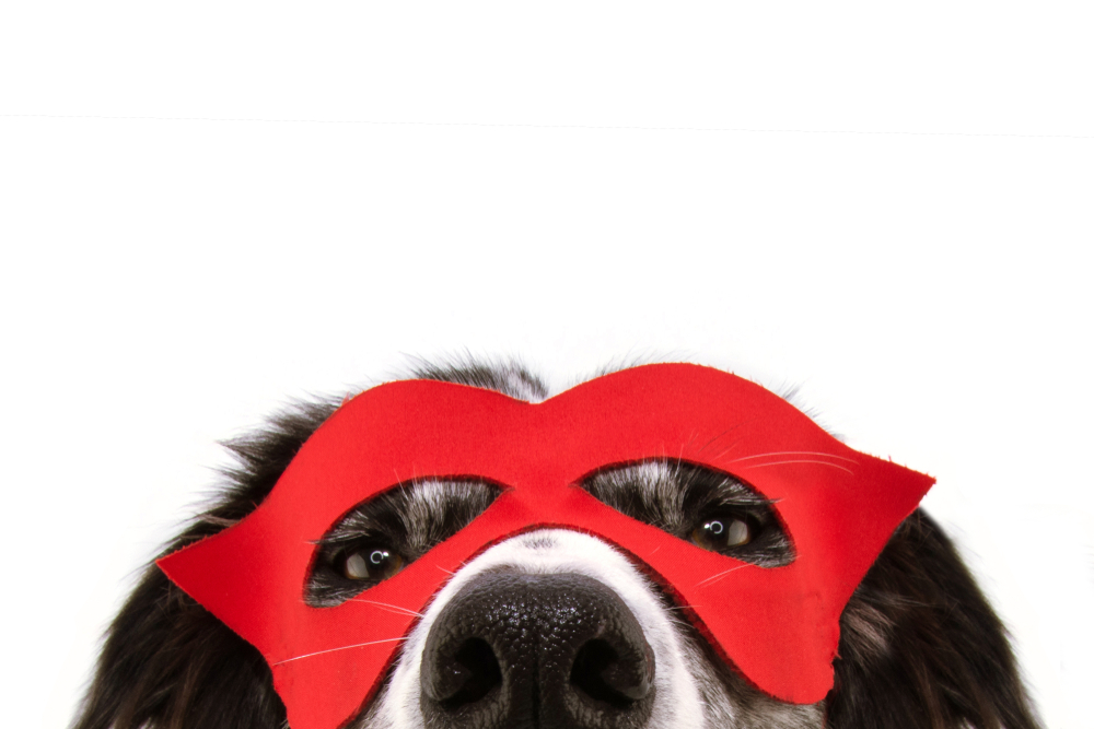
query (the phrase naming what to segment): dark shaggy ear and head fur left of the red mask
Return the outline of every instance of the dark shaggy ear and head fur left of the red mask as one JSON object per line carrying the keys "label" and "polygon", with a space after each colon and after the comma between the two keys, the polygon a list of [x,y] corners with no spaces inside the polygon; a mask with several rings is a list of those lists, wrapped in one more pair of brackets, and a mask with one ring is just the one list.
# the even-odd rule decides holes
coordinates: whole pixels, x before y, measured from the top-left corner
{"label": "dark shaggy ear and head fur left of the red mask", "polygon": [[[219,502],[164,552],[235,524],[272,490],[335,410],[298,403],[261,432],[226,444],[237,467]],[[106,634],[72,729],[283,729],[284,705],[265,659],[151,565]]]}

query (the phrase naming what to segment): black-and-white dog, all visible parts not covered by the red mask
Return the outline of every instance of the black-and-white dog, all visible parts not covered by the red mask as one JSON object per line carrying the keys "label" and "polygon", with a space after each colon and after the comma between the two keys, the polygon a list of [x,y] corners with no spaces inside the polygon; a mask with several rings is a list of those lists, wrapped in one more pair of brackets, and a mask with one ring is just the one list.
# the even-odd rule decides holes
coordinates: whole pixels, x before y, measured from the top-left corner
{"label": "black-and-white dog, all visible parts not covered by the red mask", "polygon": [[[421,364],[412,376],[527,402],[551,396],[515,363]],[[228,443],[237,467],[225,473],[223,493],[164,554],[251,514],[340,404],[298,403]],[[773,504],[724,473],[665,458],[606,469],[581,485],[703,549],[764,568],[794,561]],[[326,608],[353,599],[466,527],[498,493],[474,480],[418,479],[358,505],[316,544],[304,602]],[[1039,726],[1002,624],[922,509],[899,525],[847,603],[833,687],[813,704],[760,691],[641,565],[572,529],[538,528],[485,549],[415,618],[347,729]],[[591,623],[613,626],[610,645],[582,633]],[[531,648],[529,631],[547,635],[547,647]],[[499,692],[509,692],[504,710],[490,699]],[[573,709],[586,704],[596,710]],[[150,566],[108,628],[73,729],[288,726],[258,650]]]}

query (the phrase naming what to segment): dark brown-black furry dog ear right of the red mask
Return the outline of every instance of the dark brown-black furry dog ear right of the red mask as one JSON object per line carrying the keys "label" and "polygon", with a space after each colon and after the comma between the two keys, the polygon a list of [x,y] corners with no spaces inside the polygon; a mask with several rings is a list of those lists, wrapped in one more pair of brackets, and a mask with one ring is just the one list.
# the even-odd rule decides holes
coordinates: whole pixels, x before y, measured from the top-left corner
{"label": "dark brown-black furry dog ear right of the red mask", "polygon": [[1037,729],[999,618],[922,510],[840,621],[831,729]]}

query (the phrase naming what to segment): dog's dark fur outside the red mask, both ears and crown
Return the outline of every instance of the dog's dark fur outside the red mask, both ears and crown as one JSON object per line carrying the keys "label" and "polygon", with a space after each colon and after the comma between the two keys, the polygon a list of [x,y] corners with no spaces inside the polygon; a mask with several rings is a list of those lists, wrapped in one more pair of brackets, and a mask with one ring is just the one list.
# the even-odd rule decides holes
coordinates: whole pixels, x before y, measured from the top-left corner
{"label": "dog's dark fur outside the red mask, both ears and crown", "polygon": [[[418,374],[507,389],[496,375],[482,380],[484,372]],[[542,388],[526,372],[520,376]],[[164,553],[252,512],[335,409],[333,402],[298,404],[265,431],[228,444],[238,467],[226,473],[225,493]],[[953,545],[922,512],[893,536],[852,597],[841,628],[836,685],[827,698],[833,729],[1037,729],[1002,625]],[[154,565],[107,631],[73,725],[284,727],[284,707],[258,651]]]}

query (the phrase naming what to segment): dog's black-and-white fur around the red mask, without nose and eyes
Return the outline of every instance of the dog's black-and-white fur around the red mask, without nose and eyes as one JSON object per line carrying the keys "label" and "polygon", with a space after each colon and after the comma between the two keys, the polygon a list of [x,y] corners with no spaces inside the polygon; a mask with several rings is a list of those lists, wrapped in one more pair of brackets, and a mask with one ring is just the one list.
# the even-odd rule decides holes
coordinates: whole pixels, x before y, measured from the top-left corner
{"label": "dog's black-and-white fur around the red mask, without nose and eyes", "polygon": [[[515,364],[422,364],[416,377],[494,389],[539,401],[543,380]],[[299,448],[336,409],[300,403],[267,427],[228,444],[238,466],[219,501],[166,548],[175,551],[237,522],[270,492]],[[757,524],[766,502],[732,479],[711,481],[670,461],[597,474],[584,486],[601,501],[687,538],[689,509],[702,498],[736,505]],[[387,530],[408,558],[469,521],[492,499],[486,484],[404,484],[347,516],[324,540],[331,553],[368,529]],[[684,494],[690,494],[688,498]],[[366,507],[366,508],[365,508]],[[793,558],[778,529],[738,558],[778,566]],[[322,563],[322,558],[319,560]],[[505,540],[466,564],[438,593],[407,636],[381,689],[352,729],[423,729],[418,673],[430,626],[477,575],[500,567],[528,574],[574,573],[614,590],[638,619],[656,659],[649,729],[1036,729],[999,619],[954,546],[921,509],[893,534],[840,621],[836,680],[818,704],[766,696],[714,656],[671,600],[605,542],[566,530]],[[315,605],[349,597],[316,569]],[[284,707],[258,651],[150,566],[110,625],[95,679],[73,729],[282,729]]]}

